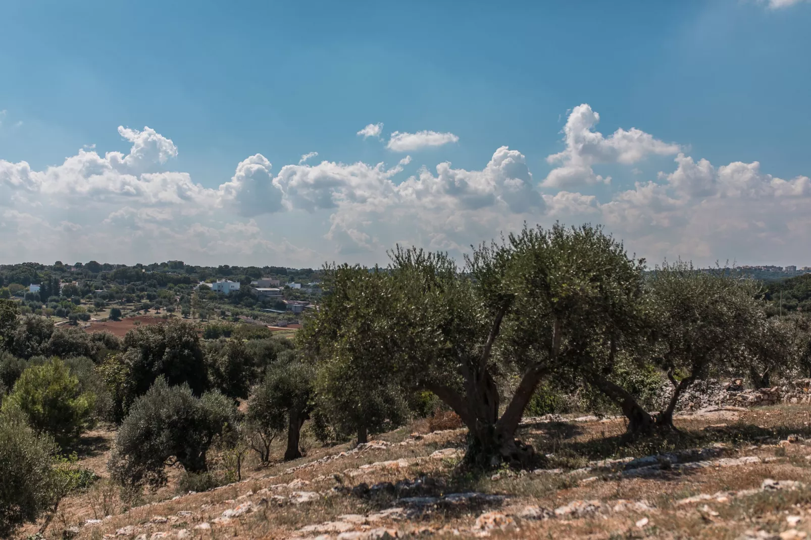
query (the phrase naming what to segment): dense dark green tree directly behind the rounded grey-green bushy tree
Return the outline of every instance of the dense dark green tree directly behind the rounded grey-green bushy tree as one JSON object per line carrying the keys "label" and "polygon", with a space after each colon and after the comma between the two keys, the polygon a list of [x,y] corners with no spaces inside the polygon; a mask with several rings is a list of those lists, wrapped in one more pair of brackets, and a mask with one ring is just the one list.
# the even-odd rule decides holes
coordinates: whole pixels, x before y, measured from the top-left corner
{"label": "dense dark green tree directly behind the rounded grey-green bushy tree", "polygon": [[200,338],[194,324],[173,320],[165,324],[145,324],[127,332],[124,348],[131,362],[135,394],[148,390],[158,376],[169,385],[188,384],[195,395],[208,388],[208,372]]}

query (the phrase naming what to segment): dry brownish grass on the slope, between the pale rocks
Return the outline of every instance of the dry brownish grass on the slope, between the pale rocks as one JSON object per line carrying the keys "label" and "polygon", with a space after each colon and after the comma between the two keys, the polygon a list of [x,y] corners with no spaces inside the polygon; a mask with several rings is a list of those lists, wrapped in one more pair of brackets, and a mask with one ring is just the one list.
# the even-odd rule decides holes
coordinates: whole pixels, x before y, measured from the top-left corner
{"label": "dry brownish grass on the slope, between the pale rocks", "polygon": [[[214,491],[185,495],[172,500],[176,495],[179,471],[173,470],[169,485],[155,493],[144,495],[144,505],[122,513],[124,503],[108,482],[102,479],[89,491],[71,495],[62,505],[62,516],[54,519],[47,531],[47,538],[62,538],[62,530],[87,519],[99,519],[110,513],[113,516],[101,525],[80,529],[79,538],[103,538],[114,534],[125,525],[139,527],[133,534],[118,538],[126,540],[135,534],[189,529],[194,538],[294,538],[303,526],[333,521],[343,514],[367,515],[391,508],[398,497],[413,495],[441,496],[447,493],[478,491],[487,494],[507,495],[502,511],[513,514],[514,523],[505,530],[489,531],[489,538],[738,538],[745,529],[762,529],[779,532],[789,528],[788,515],[802,516],[798,529],[809,531],[811,526],[811,491],[762,492],[747,497],[732,498],[726,502],[707,501],[706,504],[677,504],[684,497],[698,494],[714,494],[718,491],[740,491],[761,486],[764,478],[799,480],[811,486],[811,465],[806,456],[811,447],[805,444],[776,444],[787,435],[796,434],[811,439],[811,408],[807,405],[780,405],[752,409],[740,414],[736,421],[725,420],[727,426],[719,427],[718,418],[679,418],[679,432],[666,436],[637,440],[629,443],[622,436],[624,423],[621,420],[603,422],[557,422],[525,426],[521,438],[531,440],[539,452],[553,454],[548,466],[576,469],[586,461],[621,456],[645,456],[655,452],[670,452],[685,448],[706,448],[721,443],[726,448],[725,456],[759,456],[770,459],[750,465],[727,468],[696,469],[690,472],[665,473],[655,478],[600,478],[585,481],[592,473],[577,474],[509,474],[504,471],[500,478],[491,474],[471,474],[457,466],[457,459],[431,458],[431,453],[441,449],[460,448],[465,431],[461,429],[409,436],[414,426],[385,434],[385,448],[350,453],[331,461],[319,463],[293,473],[291,467],[305,465],[326,456],[334,456],[350,450],[350,444],[336,447],[320,447],[314,441],[308,455],[288,463],[276,463],[260,467],[249,462],[243,469],[243,478],[238,484],[224,486]],[[445,425],[445,424],[442,424]],[[450,425],[450,424],[448,424]],[[710,427],[715,426],[715,427]],[[424,426],[427,429],[427,426]],[[709,428],[709,429],[708,429]],[[88,434],[85,450],[81,454],[84,466],[105,476],[104,464],[113,437],[110,431],[99,430]],[[281,455],[280,447],[277,453]],[[405,460],[401,466],[389,465],[360,469],[362,465],[382,461]],[[404,480],[423,478],[425,482],[406,491],[397,485]],[[294,479],[307,482],[301,487],[279,486]],[[391,485],[384,484],[391,482]],[[367,486],[382,489],[367,491]],[[267,494],[258,491],[277,486]],[[354,488],[354,489],[353,489]],[[293,491],[315,491],[321,496],[307,504],[285,504],[258,507],[230,521],[227,525],[212,525],[210,530],[194,529],[201,522],[212,523],[229,508],[235,508],[245,500],[260,502],[261,497],[272,495],[287,497]],[[252,495],[247,495],[253,492]],[[618,499],[647,501],[653,510],[628,510],[603,512],[591,516],[568,516],[543,521],[521,520],[515,516],[526,505],[538,505],[554,509],[575,500],[597,499],[603,505],[615,504]],[[150,504],[152,503],[152,504]],[[431,534],[442,538],[453,535],[472,538],[481,531],[474,530],[474,522],[482,512],[493,508],[487,505],[438,508],[434,512],[413,516],[410,520],[383,519],[374,526],[391,526],[401,535]],[[177,512],[192,512],[189,516],[177,516]],[[174,522],[150,523],[153,516],[175,516]],[[644,527],[637,521],[647,518]],[[24,531],[33,532],[33,526]],[[318,534],[302,534],[315,537]],[[337,538],[337,533],[332,538]]]}

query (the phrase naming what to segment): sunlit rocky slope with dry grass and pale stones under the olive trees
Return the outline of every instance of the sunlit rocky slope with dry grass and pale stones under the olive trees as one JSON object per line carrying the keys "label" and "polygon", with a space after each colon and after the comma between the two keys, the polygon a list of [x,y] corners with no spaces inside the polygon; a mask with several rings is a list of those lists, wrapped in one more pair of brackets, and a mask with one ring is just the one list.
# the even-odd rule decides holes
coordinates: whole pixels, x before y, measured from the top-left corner
{"label": "sunlit rocky slope with dry grass and pale stones under the olive trees", "polygon": [[[127,512],[101,481],[71,495],[45,536],[807,538],[809,422],[808,405],[716,406],[681,414],[679,433],[624,444],[621,418],[527,418],[521,438],[544,467],[486,475],[457,467],[464,430],[400,430],[251,467],[212,491],[176,495],[170,482]],[[84,462],[104,474],[109,434],[92,437]]]}

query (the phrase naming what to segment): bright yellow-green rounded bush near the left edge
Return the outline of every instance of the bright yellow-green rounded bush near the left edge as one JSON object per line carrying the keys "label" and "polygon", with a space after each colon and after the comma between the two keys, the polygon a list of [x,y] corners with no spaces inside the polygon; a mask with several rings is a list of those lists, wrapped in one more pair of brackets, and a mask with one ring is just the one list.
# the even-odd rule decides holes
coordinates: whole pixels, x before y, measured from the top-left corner
{"label": "bright yellow-green rounded bush near the left edge", "polygon": [[96,396],[82,392],[79,379],[59,358],[29,366],[19,376],[2,409],[19,409],[38,433],[71,444],[92,422]]}

